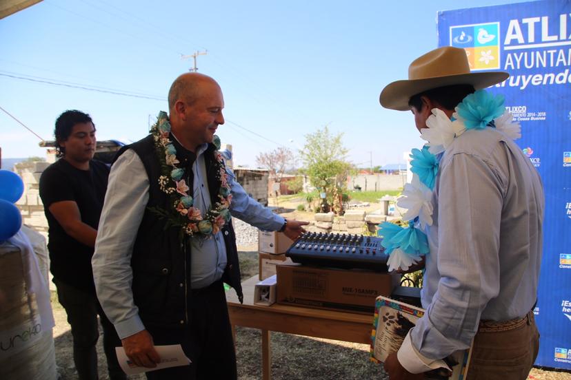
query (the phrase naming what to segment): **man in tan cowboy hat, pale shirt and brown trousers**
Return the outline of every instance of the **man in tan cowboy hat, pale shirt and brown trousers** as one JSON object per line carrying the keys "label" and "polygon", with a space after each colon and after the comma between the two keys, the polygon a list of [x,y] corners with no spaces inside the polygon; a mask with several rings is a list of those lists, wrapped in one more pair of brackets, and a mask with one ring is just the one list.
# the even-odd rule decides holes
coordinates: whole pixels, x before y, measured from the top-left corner
{"label": "man in tan cowboy hat, pale shirt and brown trousers", "polygon": [[[470,72],[455,47],[424,54],[408,75],[387,85],[380,101],[410,109],[419,131],[439,113],[433,109],[452,118],[465,96],[509,76]],[[473,340],[468,379],[525,379],[539,350],[532,311],[544,209],[539,174],[493,123],[464,131],[438,158],[421,292],[426,313],[385,370],[392,380],[421,379]]]}

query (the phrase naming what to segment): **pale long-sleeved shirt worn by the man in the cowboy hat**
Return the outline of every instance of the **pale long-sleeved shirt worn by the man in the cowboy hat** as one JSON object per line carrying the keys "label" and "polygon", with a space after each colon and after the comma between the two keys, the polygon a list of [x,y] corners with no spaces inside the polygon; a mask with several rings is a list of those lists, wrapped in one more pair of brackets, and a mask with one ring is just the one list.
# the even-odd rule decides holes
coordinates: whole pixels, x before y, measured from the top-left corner
{"label": "pale long-sleeved shirt worn by the man in the cowboy hat", "polygon": [[409,372],[464,350],[480,319],[523,317],[537,297],[543,186],[521,149],[492,127],[465,131],[440,162],[421,291],[424,317],[398,353]]}

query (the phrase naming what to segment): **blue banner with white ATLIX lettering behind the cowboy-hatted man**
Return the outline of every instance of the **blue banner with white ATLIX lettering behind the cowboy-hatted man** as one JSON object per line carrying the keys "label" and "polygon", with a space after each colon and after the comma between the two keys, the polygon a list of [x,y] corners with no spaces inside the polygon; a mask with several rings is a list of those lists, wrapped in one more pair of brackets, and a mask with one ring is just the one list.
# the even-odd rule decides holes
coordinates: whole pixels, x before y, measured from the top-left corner
{"label": "blue banner with white ATLIX lettering behind the cowboy-hatted man", "polygon": [[571,369],[571,0],[439,12],[438,45],[463,47],[471,70],[510,73],[491,89],[545,187],[536,365]]}

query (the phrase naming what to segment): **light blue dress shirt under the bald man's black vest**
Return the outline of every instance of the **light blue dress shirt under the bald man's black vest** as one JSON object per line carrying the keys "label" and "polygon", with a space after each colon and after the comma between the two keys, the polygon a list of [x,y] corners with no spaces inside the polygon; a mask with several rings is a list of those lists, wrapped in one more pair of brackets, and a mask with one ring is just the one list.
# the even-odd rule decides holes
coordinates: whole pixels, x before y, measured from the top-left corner
{"label": "light blue dress shirt under the bald man's black vest", "polygon": [[[194,205],[202,212],[210,205],[205,150],[206,145],[197,149],[197,160],[192,167]],[[259,229],[281,229],[284,219],[248,196],[230,169],[226,172],[232,190],[231,215]],[[111,167],[92,258],[97,297],[121,339],[145,329],[133,302],[130,261],[148,199],[149,179],[145,167],[139,156],[128,149]],[[191,244],[191,286],[208,286],[221,277],[226,267],[226,246],[221,232],[210,240],[193,238]],[[212,255],[213,251],[217,254]]]}

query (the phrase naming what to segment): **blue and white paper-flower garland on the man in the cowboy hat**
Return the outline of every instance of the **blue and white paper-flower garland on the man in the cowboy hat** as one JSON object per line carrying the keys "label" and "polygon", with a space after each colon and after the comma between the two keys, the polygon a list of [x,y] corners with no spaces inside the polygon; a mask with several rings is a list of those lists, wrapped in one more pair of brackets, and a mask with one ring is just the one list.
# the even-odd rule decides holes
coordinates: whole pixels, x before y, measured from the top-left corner
{"label": "blue and white paper-flower garland on the man in the cowboy hat", "polygon": [[403,228],[390,222],[379,225],[378,235],[383,237],[381,244],[389,255],[387,265],[390,271],[398,268],[405,271],[419,262],[422,255],[430,253],[428,239],[421,229],[432,226],[432,192],[441,153],[454,138],[468,129],[479,130],[488,126],[514,140],[521,137],[519,123],[512,123],[513,115],[505,109],[503,102],[502,95],[493,96],[480,89],[466,96],[454,108],[452,120],[441,109],[432,109],[432,115],[426,120],[428,128],[421,129],[421,138],[428,143],[422,149],[412,149],[412,181],[405,184],[397,200],[397,206],[406,209],[403,220],[408,221],[408,226]]}

